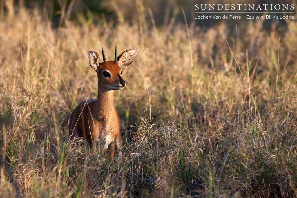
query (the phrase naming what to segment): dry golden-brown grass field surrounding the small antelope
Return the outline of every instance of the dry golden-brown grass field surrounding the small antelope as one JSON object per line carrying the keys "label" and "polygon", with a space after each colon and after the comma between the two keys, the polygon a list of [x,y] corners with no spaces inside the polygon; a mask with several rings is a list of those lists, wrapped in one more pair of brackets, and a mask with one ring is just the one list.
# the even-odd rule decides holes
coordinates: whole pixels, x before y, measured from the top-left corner
{"label": "dry golden-brown grass field surrounding the small antelope", "polygon": [[[297,197],[296,20],[160,26],[132,3],[116,23],[1,15],[0,197]],[[140,51],[115,91],[124,148],[110,163],[67,142],[72,110],[97,97],[87,52],[112,60],[115,44]]]}

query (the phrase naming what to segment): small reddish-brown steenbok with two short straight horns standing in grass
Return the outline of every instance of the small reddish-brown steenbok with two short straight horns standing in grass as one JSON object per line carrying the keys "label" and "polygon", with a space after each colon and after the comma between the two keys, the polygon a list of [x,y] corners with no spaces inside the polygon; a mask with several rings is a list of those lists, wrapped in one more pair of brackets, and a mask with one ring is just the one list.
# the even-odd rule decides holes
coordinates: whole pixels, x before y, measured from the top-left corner
{"label": "small reddish-brown steenbok with two short straight horns standing in grass", "polygon": [[108,151],[111,160],[114,158],[115,145],[122,150],[119,115],[113,106],[113,90],[124,89],[126,82],[121,77],[122,69],[133,62],[138,50],[133,48],[117,56],[116,49],[114,61],[106,61],[102,47],[101,63],[97,52],[88,52],[90,66],[97,72],[98,97],[80,102],[69,120],[70,140],[83,137],[90,147],[94,141],[103,140],[104,150]]}

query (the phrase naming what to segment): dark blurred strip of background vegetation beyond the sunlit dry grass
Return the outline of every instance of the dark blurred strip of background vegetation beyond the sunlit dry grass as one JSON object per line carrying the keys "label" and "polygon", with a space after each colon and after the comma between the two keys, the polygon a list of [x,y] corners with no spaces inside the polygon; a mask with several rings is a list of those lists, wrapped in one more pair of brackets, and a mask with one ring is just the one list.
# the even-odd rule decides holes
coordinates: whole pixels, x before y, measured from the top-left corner
{"label": "dark blurred strip of background vegetation beyond the sunlit dry grass", "polygon": [[[144,17],[150,19],[150,15],[154,16],[154,21],[157,26],[166,26],[168,23],[175,22],[184,23],[183,14],[180,8],[185,10],[186,18],[189,24],[199,26],[213,26],[222,21],[222,19],[195,20],[195,4],[294,4],[295,0],[239,0],[239,1],[220,1],[220,0],[154,0],[154,1],[136,1],[136,0],[1,0],[1,12],[15,12],[14,7],[26,7],[26,9],[39,9],[42,16],[48,18],[54,27],[61,25],[63,20],[71,20],[77,23],[84,23],[83,18],[91,20],[92,23],[107,22],[131,22],[137,20],[139,13],[137,9],[144,12]],[[276,10],[267,10],[265,12],[273,12]],[[293,10],[294,11],[294,10]],[[228,11],[227,11],[228,12]],[[241,10],[241,12],[248,12]],[[255,10],[255,12],[259,12]],[[285,13],[286,11],[284,11]],[[289,12],[289,11],[287,11]],[[3,14],[2,14],[3,15]],[[217,14],[222,15],[222,14]],[[245,21],[242,19],[241,21]],[[233,20],[224,20],[227,23],[233,24]],[[267,19],[267,26],[271,23],[280,23],[285,25],[284,20]]]}

